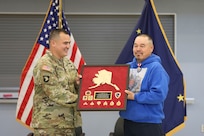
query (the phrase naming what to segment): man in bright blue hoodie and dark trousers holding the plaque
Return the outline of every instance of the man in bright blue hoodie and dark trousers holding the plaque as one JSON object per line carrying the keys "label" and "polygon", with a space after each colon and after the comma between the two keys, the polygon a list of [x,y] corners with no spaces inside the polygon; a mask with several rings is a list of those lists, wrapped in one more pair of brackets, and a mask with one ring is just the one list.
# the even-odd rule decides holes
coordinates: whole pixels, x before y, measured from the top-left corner
{"label": "man in bright blue hoodie and dark trousers holding the plaque", "polygon": [[[164,136],[163,106],[168,94],[169,76],[159,56],[153,54],[153,41],[147,34],[135,38],[134,59],[129,62],[131,84],[124,118],[124,136]],[[135,87],[133,87],[135,86]]]}

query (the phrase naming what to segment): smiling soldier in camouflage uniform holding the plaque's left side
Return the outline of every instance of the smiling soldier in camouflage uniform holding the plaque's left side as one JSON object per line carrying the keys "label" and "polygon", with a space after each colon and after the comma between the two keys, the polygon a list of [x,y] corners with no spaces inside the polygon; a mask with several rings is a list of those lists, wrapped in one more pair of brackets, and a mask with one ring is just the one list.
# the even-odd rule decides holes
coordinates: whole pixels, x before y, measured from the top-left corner
{"label": "smiling soldier in camouflage uniform holding the plaque's left side", "polygon": [[76,110],[79,79],[74,64],[67,59],[70,36],[63,29],[50,33],[50,49],[34,70],[35,94],[32,126],[35,136],[76,136],[82,119]]}

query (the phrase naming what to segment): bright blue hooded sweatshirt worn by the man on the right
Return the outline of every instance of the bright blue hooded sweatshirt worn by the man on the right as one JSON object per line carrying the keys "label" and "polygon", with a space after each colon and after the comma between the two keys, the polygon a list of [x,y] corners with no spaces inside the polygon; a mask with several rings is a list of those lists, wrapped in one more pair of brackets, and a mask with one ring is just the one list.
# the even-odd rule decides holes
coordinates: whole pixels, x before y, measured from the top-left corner
{"label": "bright blue hooded sweatshirt worn by the man on the right", "polygon": [[[129,62],[137,69],[137,60]],[[139,72],[140,73],[140,72]],[[126,110],[120,111],[122,118],[141,123],[162,123],[164,100],[168,94],[169,76],[159,56],[152,54],[141,64],[141,83],[134,100],[127,100]]]}

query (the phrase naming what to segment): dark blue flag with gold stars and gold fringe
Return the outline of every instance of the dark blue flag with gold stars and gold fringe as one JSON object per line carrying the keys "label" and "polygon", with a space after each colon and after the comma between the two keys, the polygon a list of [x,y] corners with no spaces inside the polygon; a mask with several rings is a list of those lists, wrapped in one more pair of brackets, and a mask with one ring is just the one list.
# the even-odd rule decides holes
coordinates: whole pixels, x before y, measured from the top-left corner
{"label": "dark blue flag with gold stars and gold fringe", "polygon": [[124,64],[133,59],[132,47],[135,37],[145,33],[152,37],[154,52],[161,57],[162,65],[170,76],[169,93],[165,100],[163,129],[166,136],[171,136],[184,127],[186,118],[185,84],[183,74],[171,50],[164,29],[159,20],[153,0],[145,0],[142,15],[134,28],[116,64]]}

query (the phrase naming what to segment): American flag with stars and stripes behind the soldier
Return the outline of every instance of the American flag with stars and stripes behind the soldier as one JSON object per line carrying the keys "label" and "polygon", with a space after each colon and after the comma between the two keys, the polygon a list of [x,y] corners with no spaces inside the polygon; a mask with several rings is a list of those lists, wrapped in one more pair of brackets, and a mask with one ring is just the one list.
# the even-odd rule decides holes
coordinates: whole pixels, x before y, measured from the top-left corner
{"label": "American flag with stars and stripes behind the soldier", "polygon": [[[16,108],[16,119],[27,127],[31,127],[34,82],[33,68],[37,60],[45,54],[49,49],[49,33],[52,29],[58,28],[59,23],[59,0],[51,0],[48,12],[44,19],[41,31],[33,46],[33,49],[24,66],[20,81],[20,90]],[[71,35],[71,47],[69,48],[67,57],[72,60],[75,66],[80,71],[82,65],[85,64],[84,58],[79,51],[79,48],[74,40],[74,37],[68,27],[68,23],[62,11],[62,28]]]}

